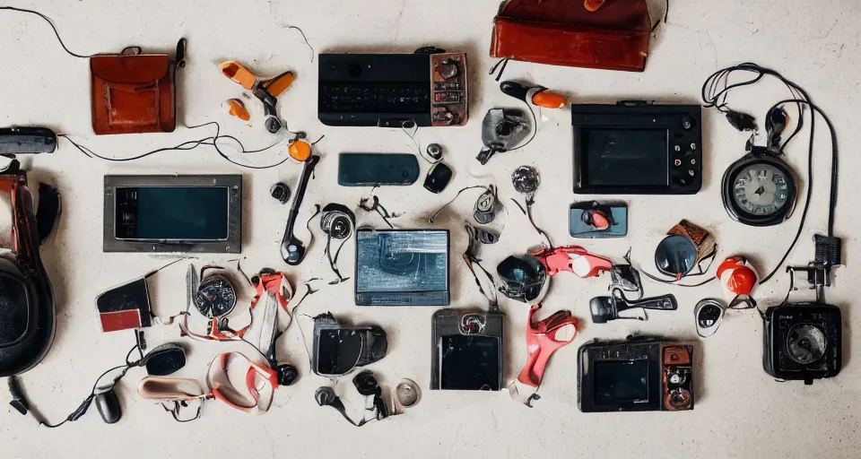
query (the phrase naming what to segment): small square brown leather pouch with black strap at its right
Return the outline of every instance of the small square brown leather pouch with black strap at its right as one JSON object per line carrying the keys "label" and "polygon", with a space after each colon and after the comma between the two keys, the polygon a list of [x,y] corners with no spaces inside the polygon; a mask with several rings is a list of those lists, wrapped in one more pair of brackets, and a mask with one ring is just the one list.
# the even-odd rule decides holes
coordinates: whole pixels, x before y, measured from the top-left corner
{"label": "small square brown leather pouch with black strap at its right", "polygon": [[129,47],[90,58],[92,130],[96,134],[170,133],[177,126],[177,71],[186,39],[173,60]]}

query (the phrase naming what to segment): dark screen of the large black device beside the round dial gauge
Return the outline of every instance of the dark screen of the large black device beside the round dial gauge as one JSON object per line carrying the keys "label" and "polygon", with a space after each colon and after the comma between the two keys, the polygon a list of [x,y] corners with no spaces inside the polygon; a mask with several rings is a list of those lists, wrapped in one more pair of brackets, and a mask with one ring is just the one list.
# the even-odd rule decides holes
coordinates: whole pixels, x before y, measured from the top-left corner
{"label": "dark screen of the large black device beside the round dial gauge", "polygon": [[587,186],[668,186],[666,129],[582,128]]}

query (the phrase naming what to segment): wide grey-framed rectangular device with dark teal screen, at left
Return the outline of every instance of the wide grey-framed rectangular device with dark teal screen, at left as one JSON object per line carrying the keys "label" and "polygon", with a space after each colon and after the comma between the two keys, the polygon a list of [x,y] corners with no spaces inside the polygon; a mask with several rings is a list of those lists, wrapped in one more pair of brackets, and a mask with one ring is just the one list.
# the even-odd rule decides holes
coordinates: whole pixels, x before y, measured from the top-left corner
{"label": "wide grey-framed rectangular device with dark teal screen, at left", "polygon": [[105,176],[102,249],[239,254],[242,176]]}

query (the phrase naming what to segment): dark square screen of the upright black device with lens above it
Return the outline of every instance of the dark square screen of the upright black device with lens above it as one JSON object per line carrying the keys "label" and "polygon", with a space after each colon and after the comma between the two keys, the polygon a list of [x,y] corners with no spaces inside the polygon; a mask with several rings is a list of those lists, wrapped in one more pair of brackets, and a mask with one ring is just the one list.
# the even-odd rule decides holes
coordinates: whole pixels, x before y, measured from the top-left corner
{"label": "dark square screen of the upright black device with lens above it", "polygon": [[500,339],[450,334],[439,338],[440,388],[500,390]]}

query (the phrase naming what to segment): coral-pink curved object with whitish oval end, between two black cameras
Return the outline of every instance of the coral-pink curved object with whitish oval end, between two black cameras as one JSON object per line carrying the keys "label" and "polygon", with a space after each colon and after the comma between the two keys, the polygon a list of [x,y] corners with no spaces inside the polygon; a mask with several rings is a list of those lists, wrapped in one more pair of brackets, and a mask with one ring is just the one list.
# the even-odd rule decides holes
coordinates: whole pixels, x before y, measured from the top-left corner
{"label": "coral-pink curved object with whitish oval end, between two black cameras", "polygon": [[[533,305],[529,309],[529,320],[526,322],[526,351],[528,358],[523,371],[517,380],[525,385],[538,387],[541,385],[541,380],[544,378],[544,369],[547,368],[547,362],[562,346],[568,345],[577,337],[577,317],[571,316],[571,311],[557,311],[552,316],[546,319],[533,322],[535,311],[541,308],[540,304]],[[557,333],[562,328],[571,325],[574,327],[574,333],[567,340],[556,338]]]}

